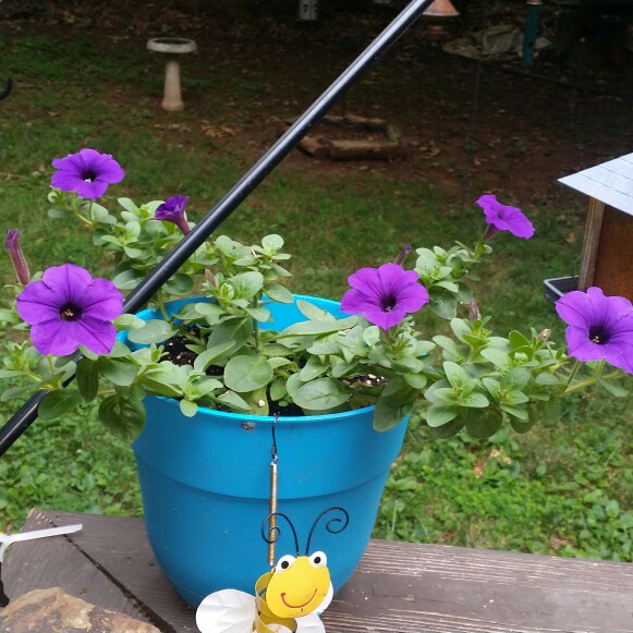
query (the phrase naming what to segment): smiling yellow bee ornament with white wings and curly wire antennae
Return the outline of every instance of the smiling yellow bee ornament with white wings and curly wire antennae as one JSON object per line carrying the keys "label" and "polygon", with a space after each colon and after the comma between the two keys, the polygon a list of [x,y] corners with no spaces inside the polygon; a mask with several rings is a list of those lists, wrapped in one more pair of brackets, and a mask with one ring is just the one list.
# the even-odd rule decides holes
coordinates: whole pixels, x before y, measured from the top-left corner
{"label": "smiling yellow bee ornament with white wings and curly wire antennae", "polygon": [[[270,514],[261,526],[267,543],[279,539],[277,518],[284,519],[294,536],[296,556],[282,556],[275,567],[259,576],[255,595],[236,589],[222,589],[207,596],[196,611],[196,624],[202,633],[325,633],[320,613],[329,606],[333,587],[325,552],[309,552],[317,523],[328,513],[337,512],[326,529],[342,532],[349,515],[342,508],[329,508],[314,522],[305,548],[299,553],[299,539],[290,519],[281,512]],[[273,525],[268,527],[267,525]]]}

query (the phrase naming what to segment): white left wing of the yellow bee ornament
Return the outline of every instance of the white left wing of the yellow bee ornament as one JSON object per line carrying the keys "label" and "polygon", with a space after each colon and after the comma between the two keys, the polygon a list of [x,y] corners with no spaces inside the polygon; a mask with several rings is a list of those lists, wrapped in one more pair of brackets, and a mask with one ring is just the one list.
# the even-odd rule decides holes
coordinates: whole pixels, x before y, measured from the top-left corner
{"label": "white left wing of the yellow bee ornament", "polygon": [[196,624],[202,633],[252,633],[256,609],[253,596],[236,589],[222,589],[200,602]]}

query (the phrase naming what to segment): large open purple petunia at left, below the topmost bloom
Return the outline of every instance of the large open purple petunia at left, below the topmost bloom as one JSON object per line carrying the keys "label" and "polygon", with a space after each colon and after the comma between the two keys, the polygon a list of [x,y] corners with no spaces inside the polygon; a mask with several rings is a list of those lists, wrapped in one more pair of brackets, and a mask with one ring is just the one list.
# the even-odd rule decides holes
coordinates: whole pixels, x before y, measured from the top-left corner
{"label": "large open purple petunia at left, below the topmost bloom", "polygon": [[41,354],[65,356],[84,345],[96,354],[111,352],[117,338],[112,320],[123,312],[123,295],[107,279],[93,279],[74,264],[48,268],[17,296],[20,317]]}

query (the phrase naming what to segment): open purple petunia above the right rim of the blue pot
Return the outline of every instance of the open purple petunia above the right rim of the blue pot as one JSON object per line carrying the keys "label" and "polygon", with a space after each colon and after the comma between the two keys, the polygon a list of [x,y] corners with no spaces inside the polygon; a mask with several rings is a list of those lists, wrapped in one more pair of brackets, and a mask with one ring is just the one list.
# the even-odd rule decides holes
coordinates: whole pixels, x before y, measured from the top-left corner
{"label": "open purple petunia above the right rim of the blue pot", "polygon": [[362,314],[384,330],[428,303],[428,292],[418,283],[417,272],[398,264],[361,268],[350,275],[348,283],[352,290],[343,295],[341,311]]}

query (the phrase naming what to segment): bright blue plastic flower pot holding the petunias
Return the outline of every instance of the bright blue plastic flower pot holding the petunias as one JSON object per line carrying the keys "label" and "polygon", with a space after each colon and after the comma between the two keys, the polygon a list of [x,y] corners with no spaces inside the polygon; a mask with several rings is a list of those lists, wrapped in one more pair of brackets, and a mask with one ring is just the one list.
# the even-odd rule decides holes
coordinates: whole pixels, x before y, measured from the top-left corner
{"label": "bright blue plastic flower pot holding the petunias", "polygon": [[[339,314],[338,303],[296,299]],[[182,304],[174,302],[172,309]],[[271,313],[276,329],[305,320],[295,304],[275,304]],[[156,318],[156,313],[138,316]],[[200,409],[187,418],[176,401],[157,397],[147,397],[145,405],[147,424],[133,448],[145,523],[160,568],[194,607],[223,588],[252,593],[269,570],[261,524],[269,513],[273,417]],[[350,515],[339,534],[329,533],[327,518],[321,520],[311,543],[311,553],[326,552],[334,591],[363,556],[406,428],[403,421],[376,433],[373,410],[282,417],[276,425],[278,511],[294,524],[301,553],[324,510],[338,506]],[[281,519],[279,527],[277,559],[294,556],[292,531]]]}

